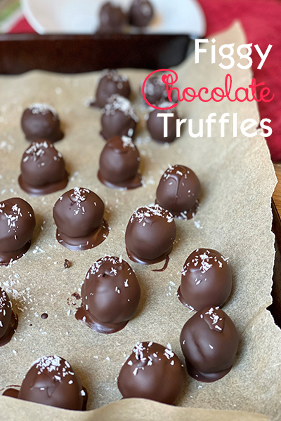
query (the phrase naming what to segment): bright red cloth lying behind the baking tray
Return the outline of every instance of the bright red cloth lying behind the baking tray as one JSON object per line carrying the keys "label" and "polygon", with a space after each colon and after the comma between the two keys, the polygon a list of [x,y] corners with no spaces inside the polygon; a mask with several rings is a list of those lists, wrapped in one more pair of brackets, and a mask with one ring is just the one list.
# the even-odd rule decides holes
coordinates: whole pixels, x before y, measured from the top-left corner
{"label": "bright red cloth lying behind the baking tray", "polygon": [[[261,70],[260,58],[254,48],[253,72],[257,83],[264,82],[275,94],[271,102],[259,102],[261,119],[270,119],[273,134],[266,138],[273,161],[281,161],[281,1],[278,0],[199,0],[207,18],[207,36],[229,27],[240,19],[248,43],[259,44],[264,53],[273,45]],[[11,32],[34,32],[25,19],[21,19]]]}

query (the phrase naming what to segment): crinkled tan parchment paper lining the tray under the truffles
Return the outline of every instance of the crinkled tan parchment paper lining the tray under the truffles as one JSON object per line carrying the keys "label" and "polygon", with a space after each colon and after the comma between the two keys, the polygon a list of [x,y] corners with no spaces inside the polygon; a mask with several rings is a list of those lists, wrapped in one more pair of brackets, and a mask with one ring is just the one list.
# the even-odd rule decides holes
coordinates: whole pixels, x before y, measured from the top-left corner
{"label": "crinkled tan parchment paper lining the tray under the truffles", "polygon": [[[244,44],[239,24],[216,36],[216,46],[235,42]],[[206,45],[206,44],[205,44]],[[208,46],[207,46],[208,48]],[[235,55],[236,62],[238,59]],[[219,62],[219,58],[217,59]],[[193,55],[178,67],[183,89],[192,86],[223,86],[225,75],[218,65],[211,65],[208,55],[200,55],[195,65]],[[144,70],[126,70],[135,97]],[[247,86],[249,70],[233,67],[233,85]],[[0,396],[0,411],[5,420],[266,420],[267,417],[236,413],[217,413],[193,408],[242,410],[281,416],[281,332],[266,307],[270,305],[274,260],[274,236],[271,232],[270,200],[276,178],[265,140],[261,135],[246,138],[232,126],[221,138],[219,125],[213,125],[214,137],[190,138],[185,130],[171,145],[150,140],[141,117],[137,145],[141,151],[141,170],[145,187],[128,192],[108,189],[96,173],[104,146],[100,138],[100,111],[87,108],[93,96],[98,73],[65,76],[30,72],[22,76],[0,78],[0,199],[21,196],[36,213],[37,227],[32,247],[24,258],[11,267],[0,268],[1,285],[11,295],[19,326],[13,340],[0,349],[0,388],[20,385],[32,362],[39,356],[58,354],[70,361],[89,391],[88,409],[105,408],[91,413],[71,413]],[[52,208],[62,192],[30,198],[18,186],[20,159],[27,142],[20,130],[22,110],[32,102],[47,102],[60,114],[65,139],[56,144],[70,171],[72,187],[88,187],[105,201],[106,219],[111,232],[100,246],[84,252],[72,252],[55,241]],[[143,116],[140,98],[135,100]],[[183,118],[199,119],[216,112],[230,116],[237,112],[238,127],[246,118],[259,121],[254,102],[221,103],[200,101],[178,106]],[[165,272],[155,267],[134,264],[127,258],[124,244],[126,224],[138,206],[155,200],[155,189],[169,164],[182,163],[195,171],[202,183],[200,209],[194,219],[178,221],[177,237]],[[65,189],[65,191],[67,190]],[[204,384],[186,376],[186,385],[174,408],[150,401],[119,401],[117,375],[126,356],[137,341],[167,342],[183,361],[179,335],[192,313],[176,297],[185,258],[195,248],[219,250],[230,259],[233,292],[223,307],[233,319],[241,341],[233,369],[222,380]],[[89,267],[105,255],[122,255],[138,276],[142,288],[141,305],[136,316],[121,332],[113,335],[94,333],[74,319],[71,294],[79,292]],[[72,262],[63,268],[65,259]],[[67,302],[68,299],[68,302]],[[48,319],[40,315],[48,313]],[[32,325],[32,326],[31,326]],[[186,412],[185,412],[186,411]],[[20,418],[18,415],[20,414]],[[207,415],[208,414],[208,415]]]}

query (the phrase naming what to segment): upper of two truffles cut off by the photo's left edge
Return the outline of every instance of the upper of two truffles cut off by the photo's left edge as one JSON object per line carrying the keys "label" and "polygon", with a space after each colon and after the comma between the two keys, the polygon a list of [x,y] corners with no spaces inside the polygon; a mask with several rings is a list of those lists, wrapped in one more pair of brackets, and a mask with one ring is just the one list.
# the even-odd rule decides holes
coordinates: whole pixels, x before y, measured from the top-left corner
{"label": "upper of two truffles cut off by the photo's left edge", "polygon": [[0,202],[0,265],[8,265],[27,252],[34,227],[30,203],[18,197]]}

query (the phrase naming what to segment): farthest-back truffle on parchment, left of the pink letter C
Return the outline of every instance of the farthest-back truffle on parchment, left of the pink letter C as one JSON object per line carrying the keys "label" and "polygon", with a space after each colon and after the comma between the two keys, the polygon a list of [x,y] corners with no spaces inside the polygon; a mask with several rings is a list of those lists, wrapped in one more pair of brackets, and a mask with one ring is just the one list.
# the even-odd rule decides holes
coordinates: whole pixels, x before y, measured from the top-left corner
{"label": "farthest-back truffle on parchment, left of the pink letter C", "polygon": [[91,105],[103,108],[111,95],[116,93],[124,98],[129,98],[131,93],[129,80],[127,76],[118,74],[116,70],[105,70],[98,82],[96,102],[93,102]]}

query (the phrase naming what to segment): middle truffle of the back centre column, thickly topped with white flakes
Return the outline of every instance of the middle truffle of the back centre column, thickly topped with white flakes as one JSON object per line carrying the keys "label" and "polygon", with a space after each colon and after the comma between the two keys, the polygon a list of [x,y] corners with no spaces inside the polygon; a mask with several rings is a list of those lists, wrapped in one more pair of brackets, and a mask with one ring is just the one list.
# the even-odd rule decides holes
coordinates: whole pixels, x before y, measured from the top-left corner
{"label": "middle truffle of the back centre column, thickly topped with white flakes", "polygon": [[113,136],[133,138],[138,116],[127,98],[118,94],[111,95],[101,112],[102,131],[100,134],[105,140]]}

